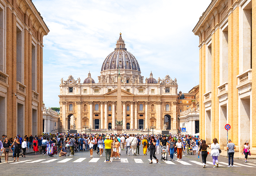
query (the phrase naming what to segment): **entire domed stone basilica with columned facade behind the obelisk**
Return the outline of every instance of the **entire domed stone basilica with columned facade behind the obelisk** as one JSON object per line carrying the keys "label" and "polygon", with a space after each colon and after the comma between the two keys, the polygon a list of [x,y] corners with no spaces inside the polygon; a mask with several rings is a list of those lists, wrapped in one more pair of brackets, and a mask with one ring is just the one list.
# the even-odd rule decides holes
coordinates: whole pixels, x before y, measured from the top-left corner
{"label": "entire domed stone basilica with columned facade behind the obelisk", "polygon": [[[117,119],[117,78],[122,78],[123,129],[145,129],[155,126],[170,132],[178,131],[177,80],[169,75],[156,80],[141,76],[136,58],[126,50],[121,33],[116,48],[104,60],[98,83],[89,72],[81,83],[70,75],[61,78],[60,128],[61,131],[85,126],[93,129],[113,129]],[[166,119],[168,121],[166,124]]]}

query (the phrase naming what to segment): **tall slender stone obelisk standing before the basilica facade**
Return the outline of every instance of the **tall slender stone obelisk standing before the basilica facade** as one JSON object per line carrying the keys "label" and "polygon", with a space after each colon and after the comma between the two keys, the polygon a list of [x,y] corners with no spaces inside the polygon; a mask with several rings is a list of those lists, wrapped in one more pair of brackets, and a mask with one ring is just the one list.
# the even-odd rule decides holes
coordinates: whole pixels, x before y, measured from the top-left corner
{"label": "tall slender stone obelisk standing before the basilica facade", "polygon": [[122,96],[121,96],[121,77],[120,77],[120,69],[117,78],[117,117],[116,117],[116,131],[119,134],[122,134]]}

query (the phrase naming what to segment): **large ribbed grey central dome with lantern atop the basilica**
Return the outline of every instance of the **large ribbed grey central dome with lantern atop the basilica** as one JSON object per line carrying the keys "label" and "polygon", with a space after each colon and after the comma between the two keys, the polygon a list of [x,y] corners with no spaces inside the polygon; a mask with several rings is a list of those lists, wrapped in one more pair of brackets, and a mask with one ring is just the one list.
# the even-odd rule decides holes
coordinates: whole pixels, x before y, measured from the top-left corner
{"label": "large ribbed grey central dome with lantern atop the basilica", "polygon": [[117,40],[115,51],[110,53],[104,60],[101,71],[110,69],[131,69],[141,71],[140,65],[136,58],[128,51],[126,51],[124,40],[121,33]]}

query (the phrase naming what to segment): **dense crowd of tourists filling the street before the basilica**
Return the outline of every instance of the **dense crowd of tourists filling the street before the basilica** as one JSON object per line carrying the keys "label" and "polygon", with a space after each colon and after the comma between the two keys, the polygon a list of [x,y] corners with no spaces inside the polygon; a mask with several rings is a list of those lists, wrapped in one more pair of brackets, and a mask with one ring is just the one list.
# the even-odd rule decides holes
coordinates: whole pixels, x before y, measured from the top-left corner
{"label": "dense crowd of tourists filling the street before the basilica", "polygon": [[[206,158],[209,155],[208,148],[211,149],[211,156],[213,167],[218,167],[218,156],[220,156],[220,145],[217,138],[212,140],[209,145],[205,140],[199,138],[199,136],[192,135],[143,135],[143,134],[104,134],[104,133],[87,133],[87,134],[69,134],[69,133],[57,133],[55,137],[47,138],[42,135],[33,137],[32,135],[25,136],[24,139],[18,135],[14,138],[7,138],[6,135],[2,135],[3,140],[0,140],[0,154],[4,153],[5,162],[8,163],[8,154],[13,153],[14,162],[19,161],[20,154],[22,157],[26,157],[26,150],[33,148],[35,155],[42,154],[49,157],[59,154],[61,157],[74,156],[75,152],[90,150],[90,157],[93,157],[93,151],[96,151],[97,155],[102,157],[103,149],[105,149],[106,162],[110,162],[110,159],[120,159],[121,150],[125,150],[126,155],[140,155],[140,146],[143,147],[143,155],[147,155],[149,151],[150,164],[153,163],[154,158],[158,163],[156,154],[159,154],[161,150],[166,149],[170,160],[174,159],[174,155],[177,157],[177,161],[181,161],[182,157],[187,155],[201,154],[203,167],[206,166]],[[229,139],[227,144],[229,165],[233,167],[234,149],[236,146]],[[187,150],[185,149],[187,148]],[[250,145],[248,141],[244,143],[242,154],[245,155],[245,162],[247,162],[248,155],[250,155]],[[1,161],[0,155],[0,162]],[[95,154],[94,154],[95,155]],[[163,158],[163,156],[162,156]]]}

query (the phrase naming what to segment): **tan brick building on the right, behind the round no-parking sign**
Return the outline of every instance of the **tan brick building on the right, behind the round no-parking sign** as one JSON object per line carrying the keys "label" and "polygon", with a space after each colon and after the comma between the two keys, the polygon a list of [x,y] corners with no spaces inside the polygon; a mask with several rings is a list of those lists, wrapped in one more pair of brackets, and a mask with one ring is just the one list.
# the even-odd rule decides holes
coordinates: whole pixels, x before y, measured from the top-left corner
{"label": "tan brick building on the right, behind the round no-parking sign", "polygon": [[[193,32],[199,36],[200,135],[221,149],[228,138],[256,153],[256,1],[212,0]],[[254,80],[254,81],[253,81]]]}

